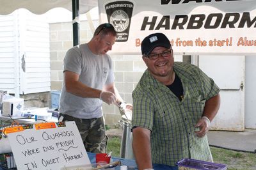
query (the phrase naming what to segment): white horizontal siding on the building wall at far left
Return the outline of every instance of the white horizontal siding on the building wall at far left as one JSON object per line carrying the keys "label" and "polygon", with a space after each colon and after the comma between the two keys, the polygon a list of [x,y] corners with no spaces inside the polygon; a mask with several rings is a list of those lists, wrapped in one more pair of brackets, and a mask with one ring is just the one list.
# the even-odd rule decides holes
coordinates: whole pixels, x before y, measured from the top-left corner
{"label": "white horizontal siding on the building wall at far left", "polygon": [[20,94],[51,91],[49,36],[43,16],[26,10],[0,16],[1,90],[15,93],[19,88]]}

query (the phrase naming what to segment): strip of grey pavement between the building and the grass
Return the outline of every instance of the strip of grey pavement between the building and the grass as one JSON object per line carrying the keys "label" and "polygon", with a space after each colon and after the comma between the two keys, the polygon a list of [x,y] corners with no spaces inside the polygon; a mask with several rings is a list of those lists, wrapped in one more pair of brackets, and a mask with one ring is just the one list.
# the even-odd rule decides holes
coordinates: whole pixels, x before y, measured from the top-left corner
{"label": "strip of grey pavement between the building and the grass", "polygon": [[[107,130],[109,137],[122,137],[123,130],[111,128]],[[209,144],[220,148],[256,153],[256,129],[246,129],[244,132],[213,131],[208,133]]]}

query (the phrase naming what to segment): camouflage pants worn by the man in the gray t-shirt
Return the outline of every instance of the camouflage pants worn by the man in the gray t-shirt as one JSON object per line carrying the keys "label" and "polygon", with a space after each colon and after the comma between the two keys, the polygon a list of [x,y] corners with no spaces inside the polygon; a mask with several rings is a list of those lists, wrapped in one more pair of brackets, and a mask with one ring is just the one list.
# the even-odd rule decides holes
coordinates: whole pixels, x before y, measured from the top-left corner
{"label": "camouflage pants worn by the man in the gray t-shirt", "polygon": [[[62,118],[61,118],[62,116]],[[75,121],[81,134],[85,150],[92,153],[106,153],[108,136],[103,116],[92,119],[79,119],[60,114],[59,121]]]}

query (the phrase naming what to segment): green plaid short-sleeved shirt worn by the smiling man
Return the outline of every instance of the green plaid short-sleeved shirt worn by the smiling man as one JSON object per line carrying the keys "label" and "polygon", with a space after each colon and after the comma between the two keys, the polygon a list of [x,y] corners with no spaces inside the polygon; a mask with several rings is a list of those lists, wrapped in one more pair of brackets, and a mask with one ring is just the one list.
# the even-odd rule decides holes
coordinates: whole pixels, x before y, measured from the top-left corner
{"label": "green plaid short-sleeved shirt worn by the smiling man", "polygon": [[175,166],[181,158],[211,160],[207,136],[196,137],[195,125],[202,117],[205,101],[220,89],[197,66],[175,62],[173,69],[182,82],[183,100],[180,102],[146,70],[132,92],[132,127],[151,130],[154,164]]}

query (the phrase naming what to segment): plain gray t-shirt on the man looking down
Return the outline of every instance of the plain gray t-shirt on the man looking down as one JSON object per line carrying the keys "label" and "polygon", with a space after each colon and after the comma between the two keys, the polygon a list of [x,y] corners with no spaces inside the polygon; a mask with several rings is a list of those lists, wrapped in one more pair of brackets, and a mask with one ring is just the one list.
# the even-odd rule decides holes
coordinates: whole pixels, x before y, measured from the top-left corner
{"label": "plain gray t-shirt on the man looking down", "polygon": [[[108,54],[95,55],[88,44],[81,44],[67,51],[64,59],[64,72],[79,74],[79,81],[91,88],[102,89],[105,84],[114,82],[111,58]],[[102,100],[83,98],[68,93],[63,81],[60,95],[60,112],[75,118],[91,119],[102,116]]]}

